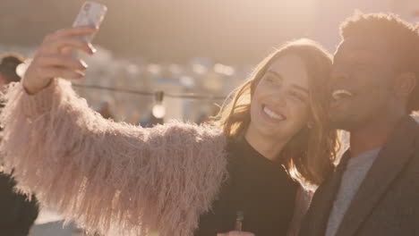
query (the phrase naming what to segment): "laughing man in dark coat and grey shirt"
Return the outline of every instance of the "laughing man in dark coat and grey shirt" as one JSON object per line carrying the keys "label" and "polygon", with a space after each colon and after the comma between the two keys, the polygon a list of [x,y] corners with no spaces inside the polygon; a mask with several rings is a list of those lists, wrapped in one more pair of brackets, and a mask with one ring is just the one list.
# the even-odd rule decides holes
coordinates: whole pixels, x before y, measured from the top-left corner
{"label": "laughing man in dark coat and grey shirt", "polygon": [[418,29],[392,14],[341,25],[330,122],[350,147],[318,188],[300,236],[419,235]]}

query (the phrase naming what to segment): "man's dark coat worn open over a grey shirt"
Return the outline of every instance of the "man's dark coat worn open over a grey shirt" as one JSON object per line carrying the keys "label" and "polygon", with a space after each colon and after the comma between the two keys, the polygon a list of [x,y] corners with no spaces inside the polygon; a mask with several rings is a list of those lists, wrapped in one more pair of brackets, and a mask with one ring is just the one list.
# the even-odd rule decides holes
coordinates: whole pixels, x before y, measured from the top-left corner
{"label": "man's dark coat worn open over a grey shirt", "polygon": [[[348,156],[346,152],[343,160]],[[325,235],[342,165],[314,194],[300,236]],[[419,124],[412,117],[399,122],[381,148],[336,235],[419,235]]]}

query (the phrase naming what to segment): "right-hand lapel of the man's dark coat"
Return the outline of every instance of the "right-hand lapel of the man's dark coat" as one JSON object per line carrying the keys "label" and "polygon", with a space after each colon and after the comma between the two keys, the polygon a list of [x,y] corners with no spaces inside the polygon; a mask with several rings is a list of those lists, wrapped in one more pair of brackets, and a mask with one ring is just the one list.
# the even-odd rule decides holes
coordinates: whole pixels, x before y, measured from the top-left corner
{"label": "right-hand lapel of the man's dark coat", "polygon": [[412,117],[406,116],[398,123],[352,199],[337,235],[354,235],[413,156],[418,137],[419,124]]}

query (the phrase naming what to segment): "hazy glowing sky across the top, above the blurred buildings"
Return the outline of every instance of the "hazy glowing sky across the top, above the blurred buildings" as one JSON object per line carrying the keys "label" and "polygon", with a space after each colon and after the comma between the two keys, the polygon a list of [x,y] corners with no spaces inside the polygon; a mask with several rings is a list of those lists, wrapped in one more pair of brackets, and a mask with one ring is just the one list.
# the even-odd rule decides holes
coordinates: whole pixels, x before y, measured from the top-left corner
{"label": "hazy glowing sky across the top, above the blurred buildings", "polygon": [[[417,0],[101,0],[108,13],[94,43],[123,57],[183,63],[195,56],[220,63],[257,63],[273,47],[313,38],[331,53],[338,25],[355,9],[411,12]],[[38,46],[72,25],[83,0],[2,0],[0,44]],[[419,12],[419,10],[417,10]]]}

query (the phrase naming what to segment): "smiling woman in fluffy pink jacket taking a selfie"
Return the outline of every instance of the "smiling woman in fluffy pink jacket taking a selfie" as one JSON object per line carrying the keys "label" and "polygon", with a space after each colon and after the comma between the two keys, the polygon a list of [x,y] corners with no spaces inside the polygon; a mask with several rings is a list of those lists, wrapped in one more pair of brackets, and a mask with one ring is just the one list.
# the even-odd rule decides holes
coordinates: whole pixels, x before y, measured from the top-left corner
{"label": "smiling woman in fluffy pink jacket taking a selfie", "polygon": [[326,125],[329,55],[310,40],[288,43],[236,89],[215,125],[143,129],[102,118],[68,81],[52,79],[83,77],[86,65],[68,52],[93,54],[80,36],[95,31],[47,36],[5,96],[1,149],[20,189],[105,234],[294,231],[298,181],[321,183],[335,157]]}

